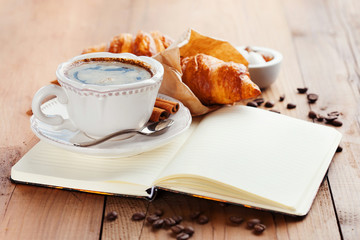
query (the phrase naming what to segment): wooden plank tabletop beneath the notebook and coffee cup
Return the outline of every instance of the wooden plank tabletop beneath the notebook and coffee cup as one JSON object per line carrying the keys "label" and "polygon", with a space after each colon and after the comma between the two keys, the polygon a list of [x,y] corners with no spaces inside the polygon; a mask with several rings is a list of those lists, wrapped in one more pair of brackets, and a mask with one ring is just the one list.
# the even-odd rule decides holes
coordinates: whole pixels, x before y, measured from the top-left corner
{"label": "wooden plank tabletop beneath the notebook and coffee cup", "polygon": [[[168,239],[133,222],[137,211],[185,217],[192,239],[359,239],[360,236],[360,3],[355,0],[19,1],[0,0],[0,239]],[[310,213],[293,218],[160,192],[154,202],[13,184],[11,167],[39,140],[29,127],[31,100],[55,78],[57,65],[121,32],[159,30],[178,38],[189,27],[284,55],[275,84],[263,91],[282,114],[310,119],[310,109],[341,111],[343,151],[332,161]],[[319,94],[308,104],[296,88]],[[284,103],[278,102],[285,94]],[[297,108],[287,110],[292,102]],[[319,123],[323,124],[323,123]],[[261,149],[259,149],[261,150]],[[204,211],[210,222],[187,216]],[[105,215],[117,211],[116,221]],[[260,218],[261,236],[228,217]]]}

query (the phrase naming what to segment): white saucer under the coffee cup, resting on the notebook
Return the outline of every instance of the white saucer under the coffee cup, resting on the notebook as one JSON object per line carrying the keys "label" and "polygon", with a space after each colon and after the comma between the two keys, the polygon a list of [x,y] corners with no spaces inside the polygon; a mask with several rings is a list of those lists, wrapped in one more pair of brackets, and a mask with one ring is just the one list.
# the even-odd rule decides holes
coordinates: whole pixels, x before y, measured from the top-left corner
{"label": "white saucer under the coffee cup, resting on the notebook", "polygon": [[[178,100],[166,95],[159,94],[160,98],[179,102]],[[185,132],[191,124],[192,118],[189,109],[179,102],[179,111],[170,116],[174,124],[164,133],[156,136],[144,136],[136,134],[133,137],[118,141],[107,141],[92,147],[76,147],[75,142],[85,142],[91,140],[83,132],[72,132],[67,129],[54,130],[51,125],[41,122],[32,116],[30,118],[31,130],[42,141],[56,145],[68,151],[97,155],[101,157],[127,157],[142,152],[150,151],[169,143],[172,139]],[[65,105],[59,103],[57,98],[47,101],[41,106],[41,110],[47,115],[61,115],[64,119],[68,118]]]}

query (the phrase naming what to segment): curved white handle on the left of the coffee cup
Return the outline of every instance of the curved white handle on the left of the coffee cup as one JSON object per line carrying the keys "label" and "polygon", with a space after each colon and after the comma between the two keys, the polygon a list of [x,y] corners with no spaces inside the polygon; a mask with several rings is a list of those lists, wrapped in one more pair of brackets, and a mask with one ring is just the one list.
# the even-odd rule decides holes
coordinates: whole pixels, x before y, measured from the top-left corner
{"label": "curved white handle on the left of the coffee cup", "polygon": [[55,84],[44,86],[35,93],[35,96],[33,98],[31,108],[34,116],[40,121],[54,126],[55,130],[60,130],[64,128],[71,131],[78,130],[77,127],[69,119],[64,119],[60,115],[47,116],[43,113],[43,111],[41,110],[41,104],[46,97],[52,95],[55,95],[61,104],[68,103],[68,98],[64,89]]}

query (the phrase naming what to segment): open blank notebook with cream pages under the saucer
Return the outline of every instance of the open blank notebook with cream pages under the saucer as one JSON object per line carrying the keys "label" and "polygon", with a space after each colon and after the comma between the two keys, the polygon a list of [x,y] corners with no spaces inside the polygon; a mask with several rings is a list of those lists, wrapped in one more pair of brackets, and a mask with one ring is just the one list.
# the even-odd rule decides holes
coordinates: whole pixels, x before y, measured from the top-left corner
{"label": "open blank notebook with cream pages under the saucer", "polygon": [[306,215],[340,142],[333,128],[231,106],[195,119],[171,143],[99,158],[40,141],[11,169],[16,182],[151,197],[149,188]]}

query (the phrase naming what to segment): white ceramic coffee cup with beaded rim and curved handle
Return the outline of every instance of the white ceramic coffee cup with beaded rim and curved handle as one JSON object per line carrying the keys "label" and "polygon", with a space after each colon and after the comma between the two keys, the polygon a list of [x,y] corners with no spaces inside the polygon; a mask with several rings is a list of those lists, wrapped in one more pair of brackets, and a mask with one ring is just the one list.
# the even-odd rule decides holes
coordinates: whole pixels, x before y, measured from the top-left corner
{"label": "white ceramic coffee cup with beaded rim and curved handle", "polygon": [[[101,60],[134,64],[147,69],[151,75],[133,83],[97,85],[76,81],[66,74],[74,63]],[[53,125],[54,129],[80,130],[91,137],[139,129],[151,116],[163,74],[163,66],[155,59],[130,53],[101,52],[76,56],[57,68],[56,76],[61,87],[51,84],[36,92],[32,111],[36,118]],[[44,99],[52,95],[66,105],[69,119],[59,115],[47,116],[41,111]]]}

